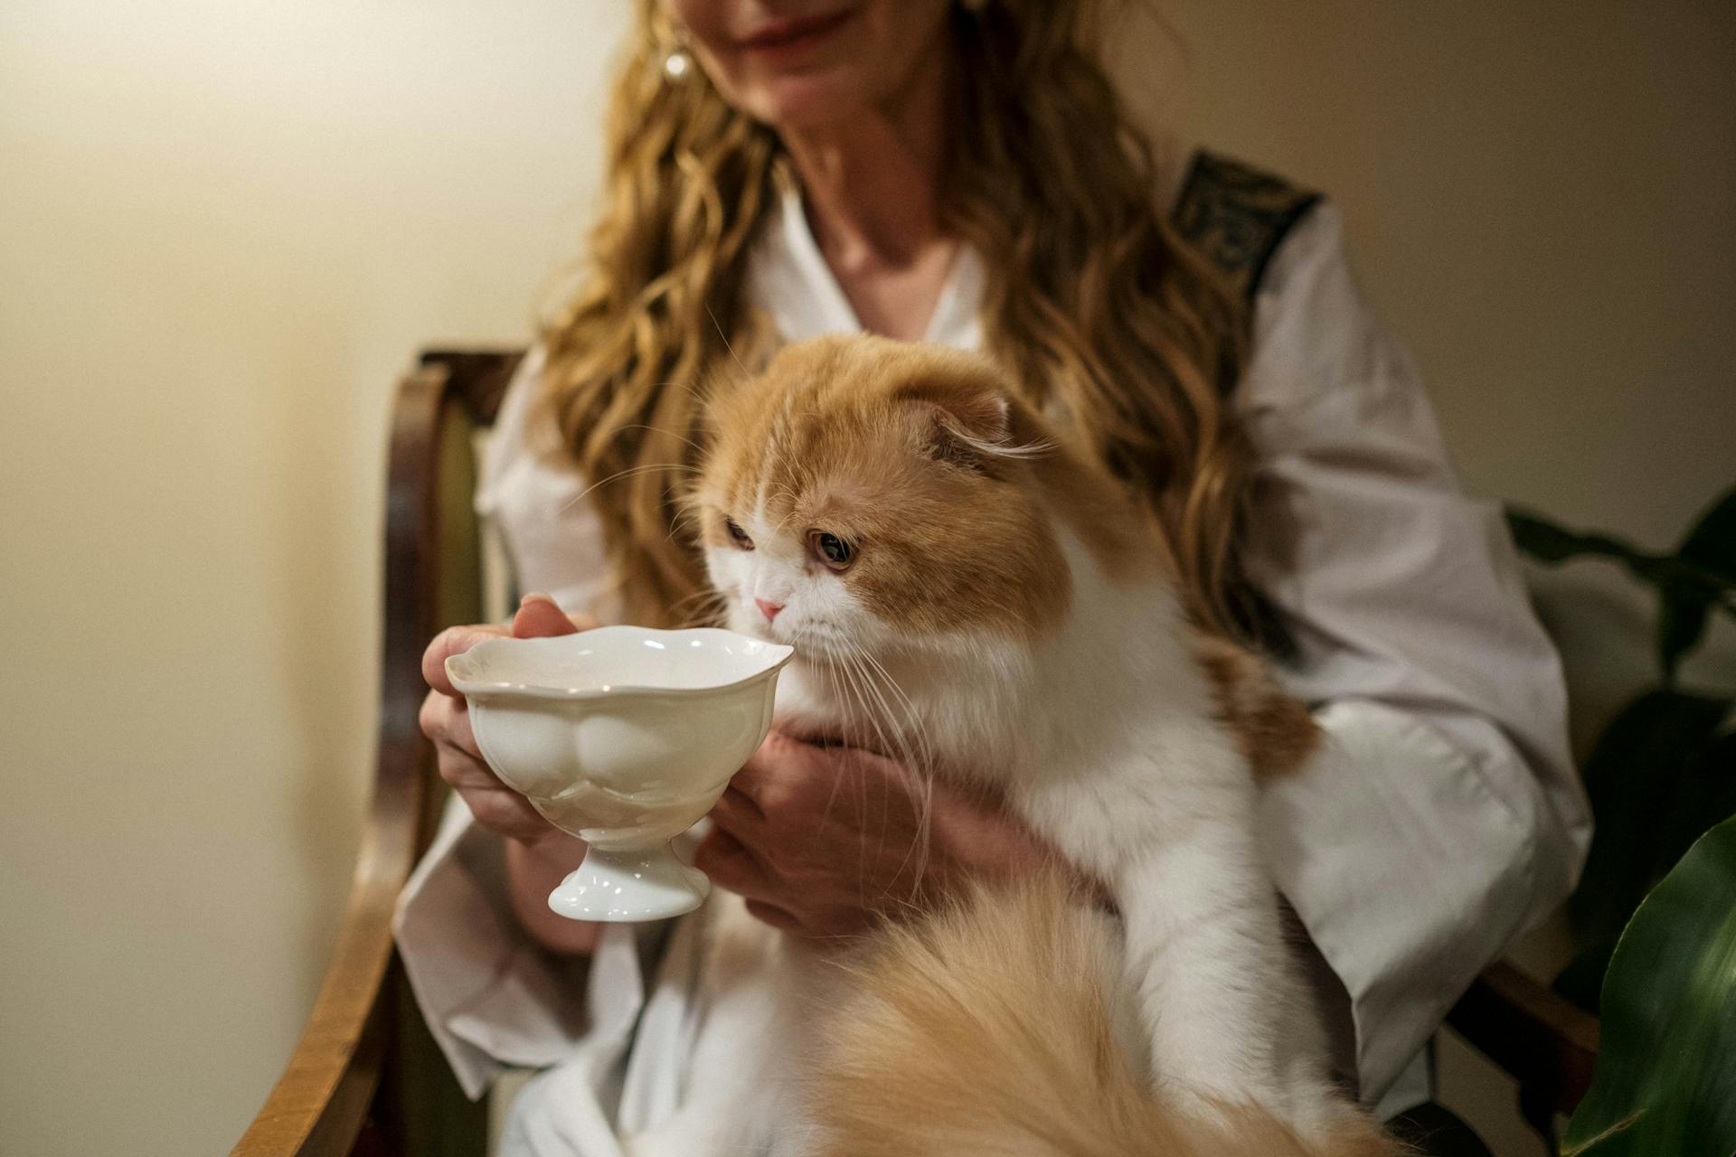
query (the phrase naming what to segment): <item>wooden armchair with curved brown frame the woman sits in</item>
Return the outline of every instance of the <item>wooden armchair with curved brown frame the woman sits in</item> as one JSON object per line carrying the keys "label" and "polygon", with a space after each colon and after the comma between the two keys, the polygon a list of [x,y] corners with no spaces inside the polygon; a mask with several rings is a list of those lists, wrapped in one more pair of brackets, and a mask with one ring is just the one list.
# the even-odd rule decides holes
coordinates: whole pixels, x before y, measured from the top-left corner
{"label": "wooden armchair with curved brown frame the woman sits in", "polygon": [[[295,1053],[233,1150],[238,1157],[484,1152],[486,1108],[465,1100],[422,1023],[391,918],[444,798],[417,723],[422,650],[444,626],[483,621],[472,435],[493,423],[519,357],[427,352],[398,389],[373,798],[332,964]],[[1552,1141],[1554,1114],[1571,1110],[1590,1084],[1597,1020],[1496,963],[1448,1022],[1519,1081],[1526,1119]]]}

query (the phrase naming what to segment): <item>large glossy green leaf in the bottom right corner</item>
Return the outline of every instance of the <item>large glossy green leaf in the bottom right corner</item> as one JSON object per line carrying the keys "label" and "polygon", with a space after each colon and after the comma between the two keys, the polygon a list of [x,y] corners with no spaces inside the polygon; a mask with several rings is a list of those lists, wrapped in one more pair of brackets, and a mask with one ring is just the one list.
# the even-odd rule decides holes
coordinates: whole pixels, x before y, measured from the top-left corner
{"label": "large glossy green leaf in the bottom right corner", "polygon": [[1701,836],[1634,914],[1601,1025],[1566,1157],[1736,1152],[1736,819]]}

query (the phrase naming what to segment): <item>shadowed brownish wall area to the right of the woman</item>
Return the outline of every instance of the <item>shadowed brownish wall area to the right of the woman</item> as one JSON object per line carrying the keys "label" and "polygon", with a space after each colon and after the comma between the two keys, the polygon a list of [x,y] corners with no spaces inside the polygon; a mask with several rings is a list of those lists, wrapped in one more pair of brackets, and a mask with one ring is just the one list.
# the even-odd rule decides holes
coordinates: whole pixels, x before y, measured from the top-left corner
{"label": "shadowed brownish wall area to the right of the woman", "polygon": [[1474,489],[1665,545],[1731,484],[1736,9],[1163,9],[1191,135],[1338,201]]}

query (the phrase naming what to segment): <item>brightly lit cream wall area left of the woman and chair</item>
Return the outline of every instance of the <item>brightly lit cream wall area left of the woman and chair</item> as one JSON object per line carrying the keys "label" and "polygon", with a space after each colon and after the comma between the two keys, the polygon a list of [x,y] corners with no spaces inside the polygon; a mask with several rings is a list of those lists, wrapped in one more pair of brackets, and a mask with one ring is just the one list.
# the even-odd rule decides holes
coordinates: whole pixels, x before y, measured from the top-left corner
{"label": "brightly lit cream wall area left of the woman and chair", "polygon": [[613,7],[0,5],[0,1152],[226,1152],[288,1056],[389,390],[526,338]]}

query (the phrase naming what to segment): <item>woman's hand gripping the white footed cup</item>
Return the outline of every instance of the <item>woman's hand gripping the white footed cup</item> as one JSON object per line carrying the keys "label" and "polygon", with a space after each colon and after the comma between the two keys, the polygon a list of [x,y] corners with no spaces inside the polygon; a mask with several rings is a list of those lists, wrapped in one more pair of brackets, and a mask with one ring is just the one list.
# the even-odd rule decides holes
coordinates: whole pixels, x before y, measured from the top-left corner
{"label": "woman's hand gripping the white footed cup", "polygon": [[585,843],[545,820],[529,800],[488,770],[470,730],[469,704],[446,678],[446,657],[486,638],[542,638],[592,626],[595,621],[564,614],[547,595],[526,595],[510,630],[451,626],[422,652],[422,678],[431,690],[422,701],[420,723],[422,734],[434,741],[441,779],[451,784],[477,824],[507,838],[512,909],[524,930],[556,952],[589,952],[597,940],[595,925],[549,911],[549,892],[585,859]]}

